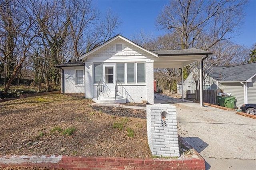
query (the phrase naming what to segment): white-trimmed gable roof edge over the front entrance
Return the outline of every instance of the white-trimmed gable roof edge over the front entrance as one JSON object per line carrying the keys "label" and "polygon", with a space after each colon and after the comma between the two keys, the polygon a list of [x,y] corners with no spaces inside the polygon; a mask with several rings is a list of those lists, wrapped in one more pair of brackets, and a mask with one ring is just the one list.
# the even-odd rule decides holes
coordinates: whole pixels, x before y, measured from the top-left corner
{"label": "white-trimmed gable roof edge over the front entrance", "polygon": [[95,51],[101,49],[102,47],[108,45],[109,43],[113,42],[114,40],[116,40],[116,39],[118,39],[118,38],[121,38],[122,40],[124,40],[124,41],[126,41],[126,42],[128,42],[128,43],[130,43],[130,44],[132,44],[132,45],[134,45],[134,46],[136,46],[136,47],[138,47],[139,49],[142,49],[143,51],[146,51],[147,53],[150,53],[151,55],[153,55],[153,56],[155,56],[155,57],[158,57],[158,55],[157,55],[156,53],[154,53],[154,52],[152,52],[152,51],[150,51],[150,50],[148,50],[148,49],[146,49],[146,48],[144,48],[144,47],[142,47],[142,46],[140,46],[140,45],[138,45],[138,44],[132,42],[131,40],[128,40],[127,38],[125,38],[125,37],[123,37],[123,36],[121,36],[121,35],[118,34],[117,36],[115,36],[115,37],[111,38],[110,40],[108,40],[107,42],[103,43],[102,45],[100,45],[100,46],[98,46],[98,47],[92,49],[92,50],[89,51],[88,53],[82,54],[82,55],[79,57],[79,59],[80,59],[80,60],[84,60],[88,55],[94,53]]}

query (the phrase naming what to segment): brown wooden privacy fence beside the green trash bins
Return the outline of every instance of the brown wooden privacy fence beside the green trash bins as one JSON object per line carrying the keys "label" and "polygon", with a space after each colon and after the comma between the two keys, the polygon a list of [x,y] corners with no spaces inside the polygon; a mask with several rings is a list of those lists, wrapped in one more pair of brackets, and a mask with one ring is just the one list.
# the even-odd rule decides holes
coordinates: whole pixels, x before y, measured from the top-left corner
{"label": "brown wooden privacy fence beside the green trash bins", "polygon": [[[217,95],[218,93],[222,93],[221,89],[218,90],[204,90],[204,102],[211,103],[214,105],[218,105]],[[195,100],[200,101],[200,90],[196,90]]]}

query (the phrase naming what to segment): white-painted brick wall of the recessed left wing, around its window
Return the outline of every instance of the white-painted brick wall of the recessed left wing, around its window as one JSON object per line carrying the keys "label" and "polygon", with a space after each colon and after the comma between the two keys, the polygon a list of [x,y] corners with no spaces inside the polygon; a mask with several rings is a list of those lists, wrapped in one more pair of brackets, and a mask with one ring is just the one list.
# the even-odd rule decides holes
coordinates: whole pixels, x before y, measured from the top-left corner
{"label": "white-painted brick wall of the recessed left wing, around its window", "polygon": [[84,84],[75,85],[75,69],[84,69],[80,67],[62,67],[64,70],[64,91],[63,93],[84,93]]}

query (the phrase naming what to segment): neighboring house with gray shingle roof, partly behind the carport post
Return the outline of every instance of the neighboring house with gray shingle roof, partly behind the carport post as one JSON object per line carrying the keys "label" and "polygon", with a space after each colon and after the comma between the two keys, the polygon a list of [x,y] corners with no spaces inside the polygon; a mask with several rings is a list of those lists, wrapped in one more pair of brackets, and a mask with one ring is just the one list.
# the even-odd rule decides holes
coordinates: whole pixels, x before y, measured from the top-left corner
{"label": "neighboring house with gray shingle roof, partly behind the carport post", "polygon": [[[203,86],[204,89],[222,89],[224,93],[231,93],[237,99],[238,108],[245,103],[256,103],[256,62],[230,67],[210,67],[206,71]],[[192,73],[184,81],[183,87],[184,95],[186,91],[194,93],[196,83]]]}

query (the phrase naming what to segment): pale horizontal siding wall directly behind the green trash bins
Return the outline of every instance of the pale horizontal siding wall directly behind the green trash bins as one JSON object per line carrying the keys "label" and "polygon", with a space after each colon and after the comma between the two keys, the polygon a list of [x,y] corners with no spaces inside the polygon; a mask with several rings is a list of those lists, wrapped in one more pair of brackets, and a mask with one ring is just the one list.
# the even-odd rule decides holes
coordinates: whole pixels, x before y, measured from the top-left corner
{"label": "pale horizontal siding wall directly behind the green trash bins", "polygon": [[219,83],[224,93],[231,93],[236,97],[236,106],[240,108],[244,104],[244,87],[241,83]]}

